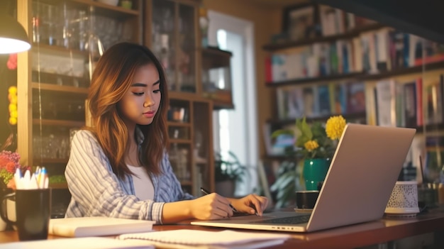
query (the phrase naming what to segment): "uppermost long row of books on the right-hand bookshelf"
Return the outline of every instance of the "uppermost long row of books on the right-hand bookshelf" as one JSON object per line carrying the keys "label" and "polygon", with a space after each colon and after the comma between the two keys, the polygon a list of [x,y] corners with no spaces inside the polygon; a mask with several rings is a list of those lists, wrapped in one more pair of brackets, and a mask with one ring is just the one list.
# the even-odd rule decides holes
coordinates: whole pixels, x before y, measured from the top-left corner
{"label": "uppermost long row of books on the right-hand bookshelf", "polygon": [[382,28],[355,38],[275,52],[265,59],[265,77],[268,83],[279,83],[353,72],[378,74],[443,60],[443,45]]}

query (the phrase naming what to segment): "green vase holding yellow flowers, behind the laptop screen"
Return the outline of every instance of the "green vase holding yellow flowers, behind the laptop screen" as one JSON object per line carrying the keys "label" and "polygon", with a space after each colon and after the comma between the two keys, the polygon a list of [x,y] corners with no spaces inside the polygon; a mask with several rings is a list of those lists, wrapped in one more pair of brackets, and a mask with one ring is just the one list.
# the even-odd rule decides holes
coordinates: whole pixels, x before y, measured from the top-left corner
{"label": "green vase holding yellow flowers, behind the laptop screen", "polygon": [[304,160],[304,179],[306,190],[318,190],[326,179],[330,160],[323,158]]}

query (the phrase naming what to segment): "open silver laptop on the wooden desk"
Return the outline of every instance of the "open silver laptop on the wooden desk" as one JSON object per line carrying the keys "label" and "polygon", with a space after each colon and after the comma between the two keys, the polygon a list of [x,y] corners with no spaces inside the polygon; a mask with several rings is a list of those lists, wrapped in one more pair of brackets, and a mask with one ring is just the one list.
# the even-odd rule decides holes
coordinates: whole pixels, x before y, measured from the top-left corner
{"label": "open silver laptop on the wooden desk", "polygon": [[348,123],[311,214],[272,211],[192,225],[311,232],[382,218],[399,177],[414,128]]}

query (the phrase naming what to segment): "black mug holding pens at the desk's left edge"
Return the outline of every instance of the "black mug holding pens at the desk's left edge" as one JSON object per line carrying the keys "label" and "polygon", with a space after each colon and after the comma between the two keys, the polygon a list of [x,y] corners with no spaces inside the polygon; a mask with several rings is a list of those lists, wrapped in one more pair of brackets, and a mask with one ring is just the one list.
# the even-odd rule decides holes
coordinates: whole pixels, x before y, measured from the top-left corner
{"label": "black mug holding pens at the desk's left edge", "polygon": [[[3,210],[6,199],[16,200],[16,221]],[[1,199],[0,216],[10,226],[16,226],[19,240],[45,240],[51,218],[51,189],[16,189]]]}

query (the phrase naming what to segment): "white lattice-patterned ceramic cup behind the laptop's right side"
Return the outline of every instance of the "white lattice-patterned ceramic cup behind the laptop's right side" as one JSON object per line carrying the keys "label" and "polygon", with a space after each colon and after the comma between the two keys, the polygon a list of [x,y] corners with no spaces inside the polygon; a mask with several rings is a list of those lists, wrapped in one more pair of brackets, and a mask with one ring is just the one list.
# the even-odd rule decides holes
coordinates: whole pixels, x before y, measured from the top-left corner
{"label": "white lattice-patterned ceramic cup behind the laptop's right side", "polygon": [[415,215],[418,208],[418,182],[396,182],[387,203],[386,214]]}

